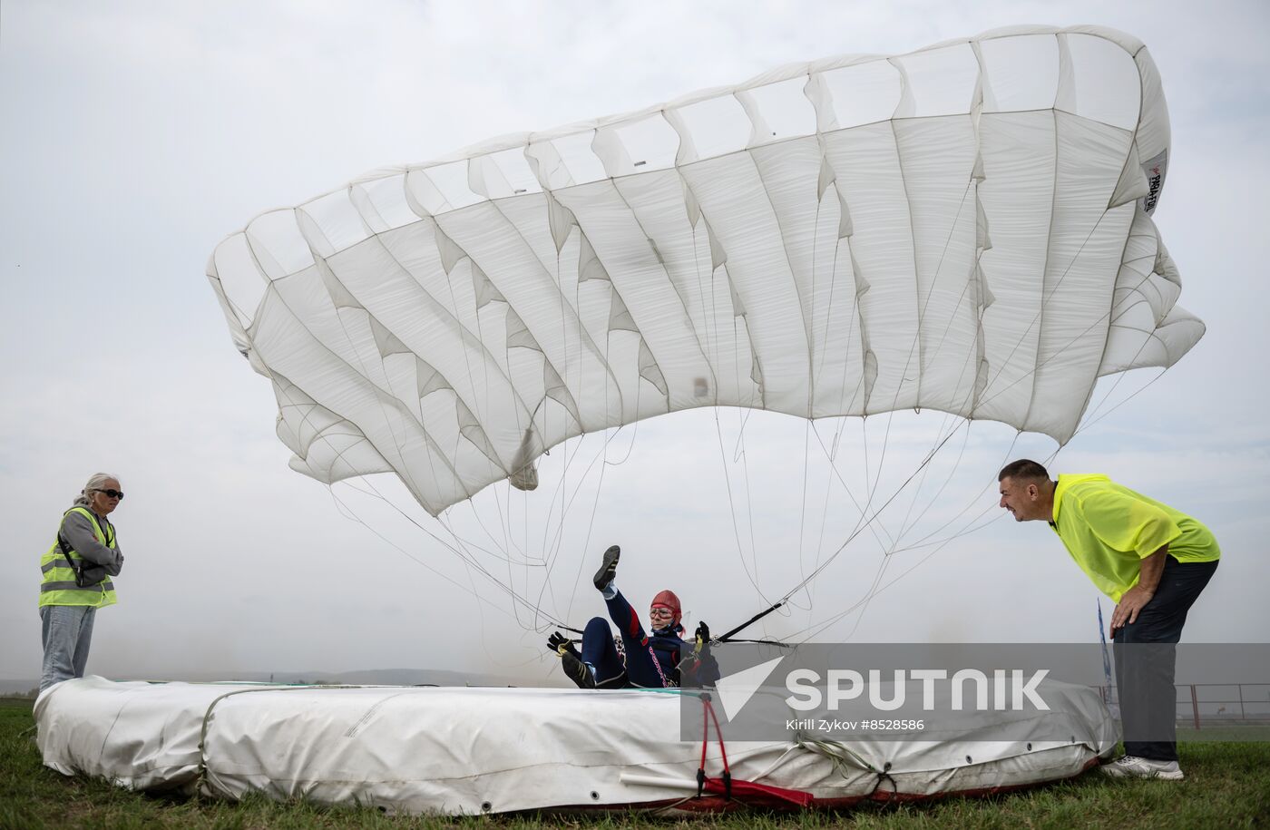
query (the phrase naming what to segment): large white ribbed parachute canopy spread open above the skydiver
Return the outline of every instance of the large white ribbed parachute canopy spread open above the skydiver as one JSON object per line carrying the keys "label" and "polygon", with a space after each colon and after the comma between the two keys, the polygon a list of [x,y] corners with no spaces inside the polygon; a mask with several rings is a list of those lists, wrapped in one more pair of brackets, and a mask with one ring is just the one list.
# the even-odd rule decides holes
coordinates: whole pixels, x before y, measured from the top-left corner
{"label": "large white ribbed parachute canopy spread open above the skydiver", "polygon": [[207,273],[292,467],[395,472],[434,515],[698,406],[1066,443],[1099,377],[1203,335],[1151,220],[1167,161],[1142,43],[1016,28],[377,170]]}

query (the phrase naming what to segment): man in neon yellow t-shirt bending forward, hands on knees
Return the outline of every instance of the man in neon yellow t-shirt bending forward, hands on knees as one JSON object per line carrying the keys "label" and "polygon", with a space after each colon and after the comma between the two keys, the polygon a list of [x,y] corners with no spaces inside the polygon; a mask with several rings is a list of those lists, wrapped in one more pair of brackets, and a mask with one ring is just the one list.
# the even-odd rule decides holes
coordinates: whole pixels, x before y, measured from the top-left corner
{"label": "man in neon yellow t-shirt bending forward, hands on knees", "polygon": [[1016,522],[1049,522],[1080,569],[1116,603],[1111,633],[1125,756],[1102,770],[1181,779],[1175,645],[1222,556],[1213,533],[1106,476],[1050,481],[1043,466],[1024,458],[1006,464],[997,481],[1001,506]]}

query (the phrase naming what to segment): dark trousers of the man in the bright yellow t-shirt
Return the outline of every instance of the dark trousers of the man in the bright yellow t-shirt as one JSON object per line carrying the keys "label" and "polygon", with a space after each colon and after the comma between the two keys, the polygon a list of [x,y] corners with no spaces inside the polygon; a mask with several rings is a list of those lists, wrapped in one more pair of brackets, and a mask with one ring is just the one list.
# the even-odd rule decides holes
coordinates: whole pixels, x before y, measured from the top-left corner
{"label": "dark trousers of the man in the bright yellow t-shirt", "polygon": [[1166,555],[1156,595],[1138,619],[1115,632],[1115,678],[1125,755],[1177,760],[1177,688],[1173,685],[1177,641],[1186,612],[1217,562],[1179,562]]}

